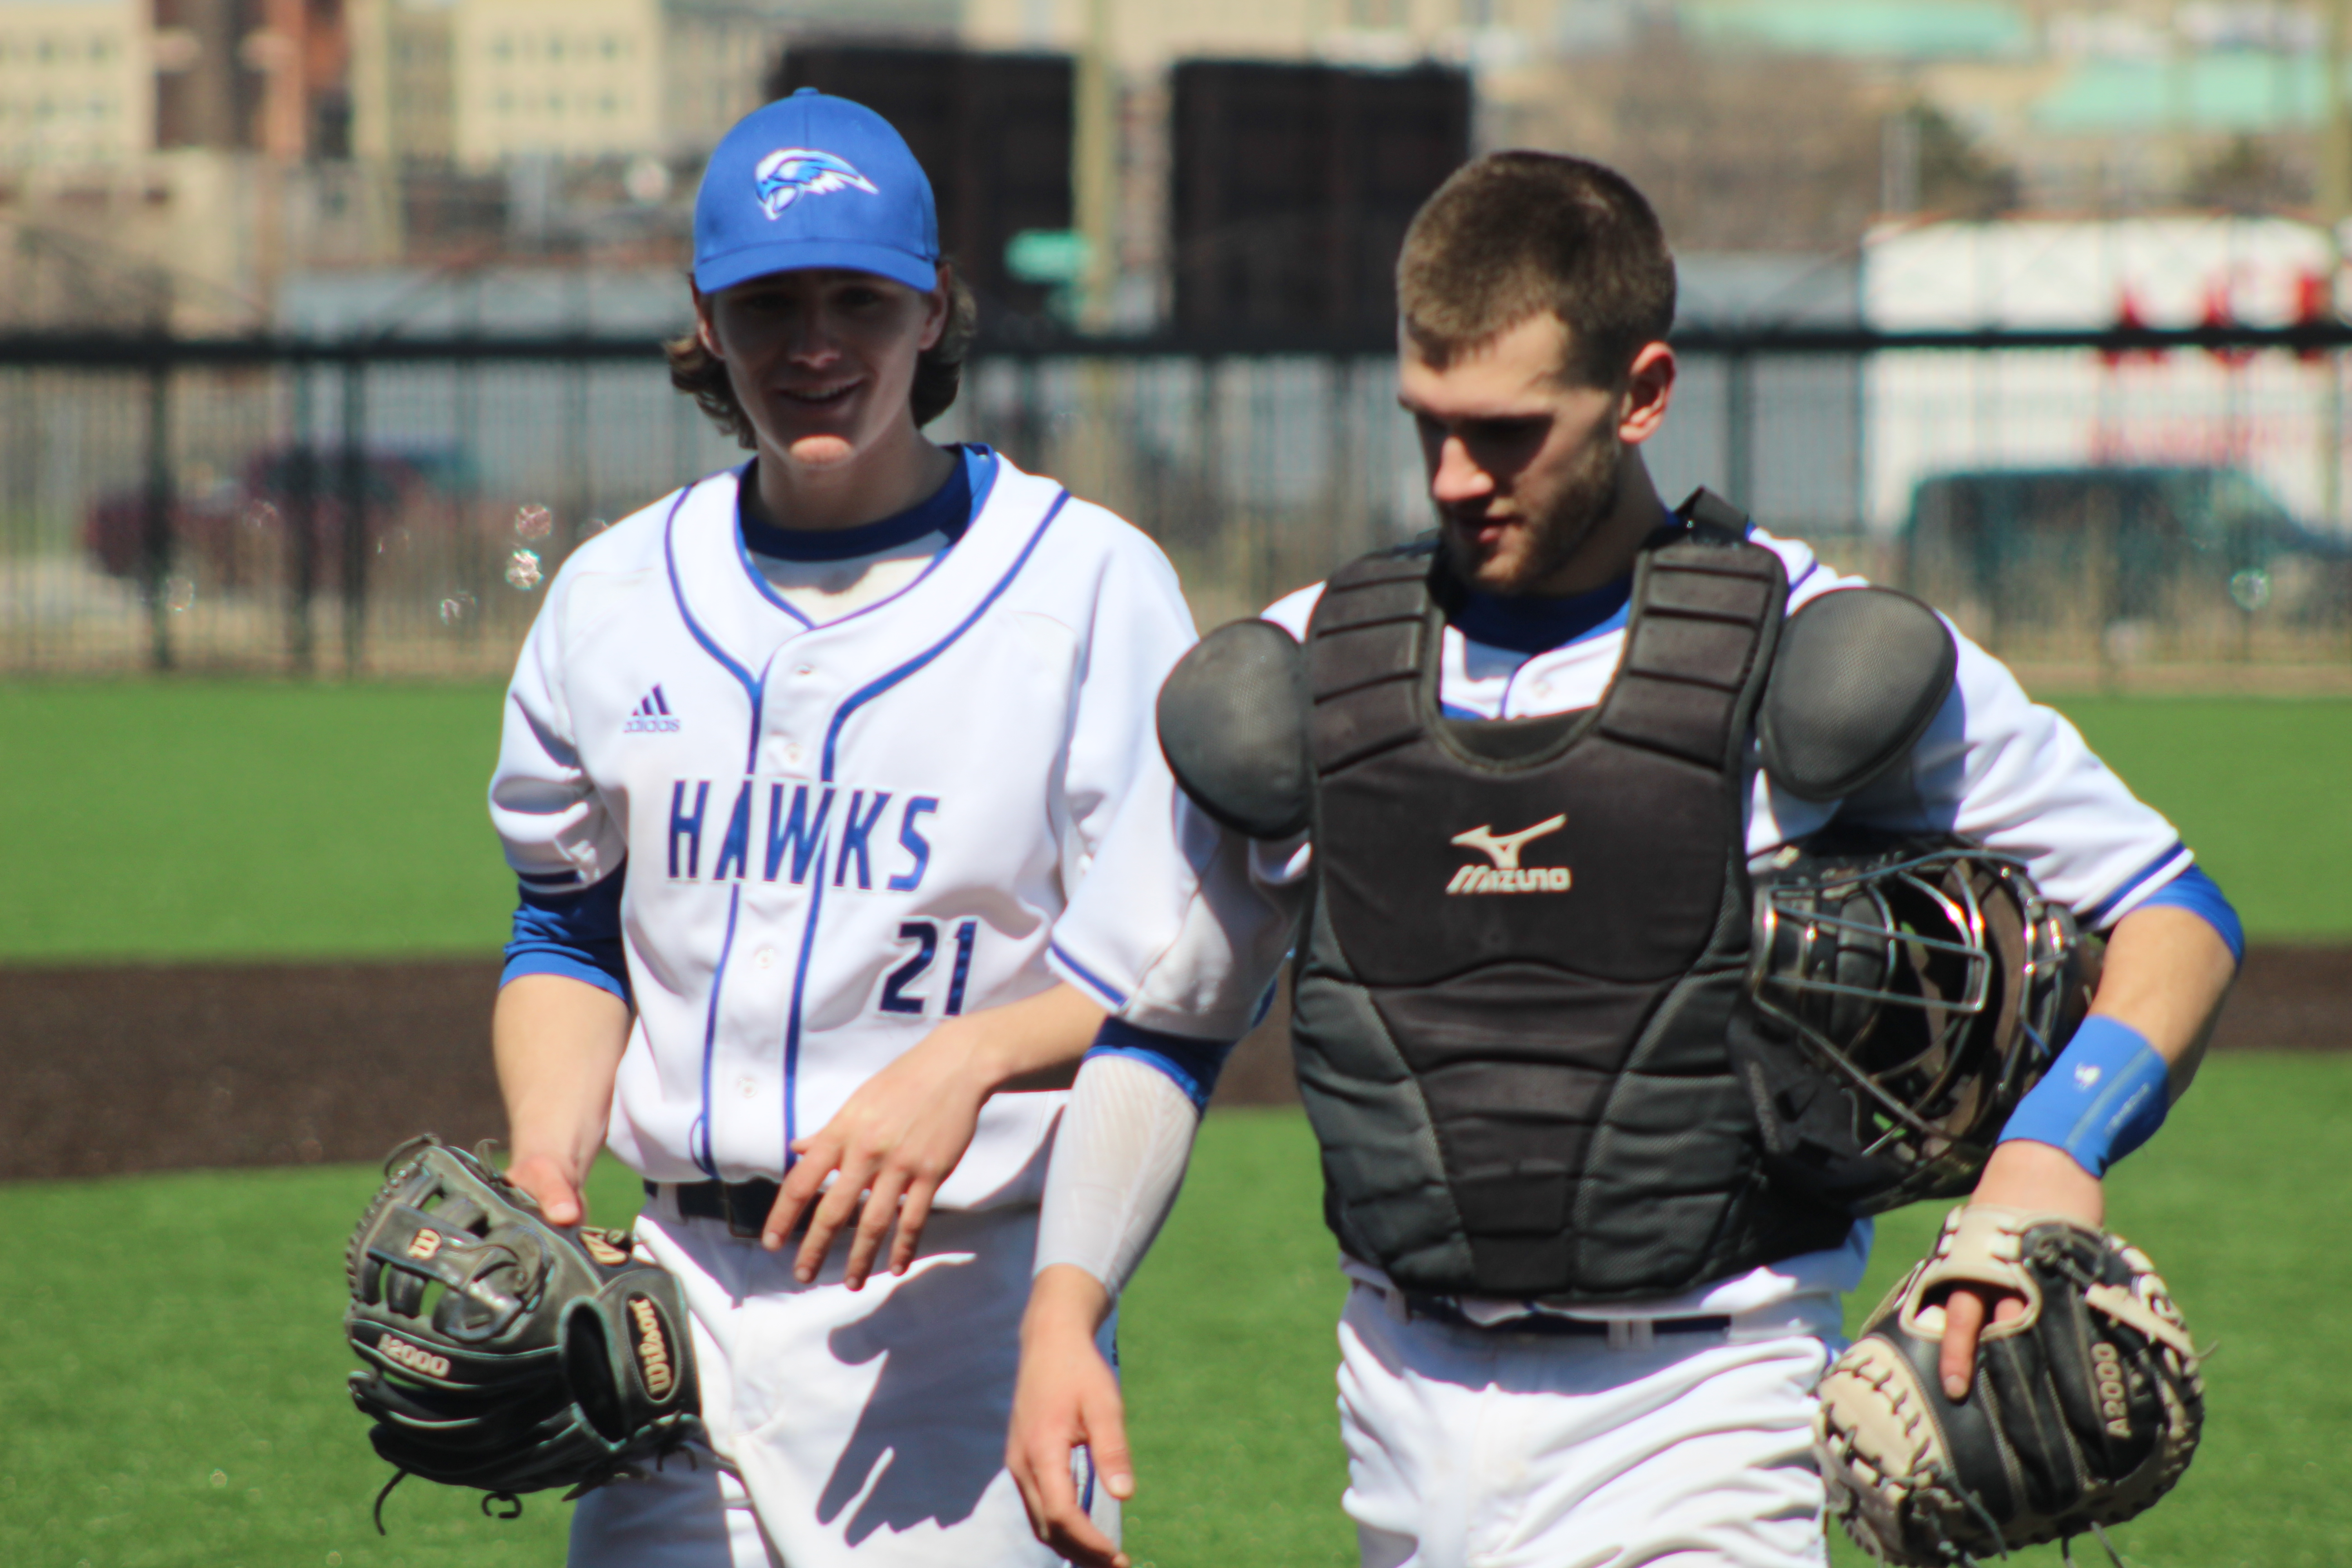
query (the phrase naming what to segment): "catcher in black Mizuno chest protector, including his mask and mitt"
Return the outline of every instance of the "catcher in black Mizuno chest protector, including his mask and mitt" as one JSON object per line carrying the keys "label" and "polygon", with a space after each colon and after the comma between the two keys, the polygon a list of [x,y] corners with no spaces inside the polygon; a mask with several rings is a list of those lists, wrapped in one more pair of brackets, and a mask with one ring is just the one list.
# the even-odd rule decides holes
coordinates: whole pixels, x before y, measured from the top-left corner
{"label": "catcher in black Mizuno chest protector, including his mask and mitt", "polygon": [[[1929,1469],[1966,1500],[1929,1526],[1905,1495],[1900,1549],[1959,1563],[2089,1533],[2103,1488],[2154,1495],[2194,1371],[2098,1234],[2100,1175],[2230,985],[2220,891],[1917,602],[1705,491],[1668,510],[1642,447],[1675,268],[1623,176],[1458,169],[1397,299],[1435,534],[1185,656],[1169,769],[1054,931],[1110,1018],[1054,1147],[1007,1439],[1040,1537],[1124,1568],[1070,1479],[1087,1448],[1115,1497],[1145,1481],[1096,1333],[1287,952],[1364,1568],[1818,1568],[1830,1483],[1851,1514],[1856,1483]],[[2096,987],[2072,924],[2105,943]],[[1825,1479],[1867,1215],[1938,1194],[1978,1220],[1886,1333],[1945,1443],[1898,1467],[1879,1427],[1828,1425],[1853,1467]],[[2098,1422],[2030,1432],[2042,1389]],[[1987,1425],[2009,1493],[1971,1458]]]}

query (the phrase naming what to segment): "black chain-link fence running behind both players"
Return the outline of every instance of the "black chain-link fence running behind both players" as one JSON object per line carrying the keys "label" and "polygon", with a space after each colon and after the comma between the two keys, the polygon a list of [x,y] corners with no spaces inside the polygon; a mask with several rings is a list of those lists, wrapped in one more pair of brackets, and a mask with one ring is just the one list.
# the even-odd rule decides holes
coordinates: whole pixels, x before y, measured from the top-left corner
{"label": "black chain-link fence running behind both players", "polygon": [[[2027,661],[2352,661],[2340,327],[1691,334],[1651,444]],[[931,430],[1127,515],[1204,625],[1428,520],[1381,346],[1030,343]],[[741,461],[644,339],[0,339],[0,672],[496,675]]]}

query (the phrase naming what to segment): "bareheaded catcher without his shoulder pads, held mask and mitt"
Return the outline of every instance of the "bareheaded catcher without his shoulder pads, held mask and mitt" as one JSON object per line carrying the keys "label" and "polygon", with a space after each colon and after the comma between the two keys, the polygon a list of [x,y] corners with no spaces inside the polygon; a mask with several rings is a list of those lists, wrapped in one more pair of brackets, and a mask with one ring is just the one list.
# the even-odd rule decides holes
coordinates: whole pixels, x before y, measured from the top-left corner
{"label": "bareheaded catcher without his shoulder pads, held mask and mitt", "polygon": [[[1110,1018],[1047,1182],[1009,1465],[1073,1561],[1127,1559],[1070,1450],[1134,1488],[1094,1335],[1294,938],[1367,1568],[1825,1561],[1811,1389],[1870,1225],[1762,1175],[1726,1065],[1745,914],[1717,914],[1745,910],[1748,858],[1832,818],[1957,832],[2107,936],[2091,1020],[1973,1201],[2096,1225],[2107,1161],[2194,1067],[2237,919],[1994,658],[1957,639],[1950,696],[1851,799],[1759,769],[1726,717],[1759,649],[1858,581],[1661,505],[1639,447],[1672,402],[1672,301],[1658,221],[1609,169],[1501,153],[1430,197],[1399,400],[1435,567],[1371,557],[1265,611],[1305,644],[1312,835],[1249,842],[1152,771],[1056,929]],[[1947,1387],[2016,1307],[1952,1293]]]}

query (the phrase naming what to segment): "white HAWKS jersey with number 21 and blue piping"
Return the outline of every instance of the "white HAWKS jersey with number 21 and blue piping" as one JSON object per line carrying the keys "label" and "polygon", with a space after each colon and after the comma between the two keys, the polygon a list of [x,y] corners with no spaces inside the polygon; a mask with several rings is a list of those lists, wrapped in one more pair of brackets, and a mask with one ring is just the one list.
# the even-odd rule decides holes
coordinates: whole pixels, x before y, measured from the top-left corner
{"label": "white HAWKS jersey with number 21 and blue piping", "polygon": [[[489,792],[527,889],[626,870],[609,1145],[654,1180],[781,1175],[938,1020],[1049,987],[1192,642],[1148,538],[1002,458],[953,548],[811,625],[746,552],[739,480],[564,562]],[[1063,1098],[995,1095],[938,1204],[1033,1201]]]}

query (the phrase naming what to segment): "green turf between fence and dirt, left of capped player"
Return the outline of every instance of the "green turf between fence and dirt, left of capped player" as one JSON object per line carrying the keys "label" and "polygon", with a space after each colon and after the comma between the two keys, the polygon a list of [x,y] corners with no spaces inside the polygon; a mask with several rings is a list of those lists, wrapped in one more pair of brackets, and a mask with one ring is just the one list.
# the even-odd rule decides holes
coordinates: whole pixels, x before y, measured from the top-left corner
{"label": "green turf between fence and dirt, left of capped player", "polygon": [[0,959],[492,952],[494,686],[0,686]]}

